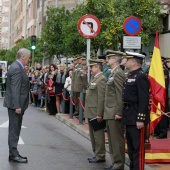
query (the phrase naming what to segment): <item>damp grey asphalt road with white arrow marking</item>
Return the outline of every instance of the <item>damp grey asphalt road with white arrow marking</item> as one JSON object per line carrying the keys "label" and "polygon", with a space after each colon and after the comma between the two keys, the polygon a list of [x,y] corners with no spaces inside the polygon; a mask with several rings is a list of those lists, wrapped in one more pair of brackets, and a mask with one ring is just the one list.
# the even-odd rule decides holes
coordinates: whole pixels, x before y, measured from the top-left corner
{"label": "damp grey asphalt road with white arrow marking", "polygon": [[28,163],[8,162],[8,113],[2,105],[0,99],[0,170],[99,170],[111,164],[108,154],[106,163],[88,163],[90,141],[32,106],[25,112],[18,146]]}

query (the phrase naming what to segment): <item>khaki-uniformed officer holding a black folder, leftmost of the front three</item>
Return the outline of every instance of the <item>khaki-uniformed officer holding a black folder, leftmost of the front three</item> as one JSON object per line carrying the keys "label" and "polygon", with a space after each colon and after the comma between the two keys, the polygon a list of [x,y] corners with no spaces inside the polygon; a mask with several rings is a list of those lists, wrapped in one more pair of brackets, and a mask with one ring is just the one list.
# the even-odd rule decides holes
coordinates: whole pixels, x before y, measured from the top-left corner
{"label": "khaki-uniformed officer holding a black folder, leftmost of the front three", "polygon": [[101,60],[90,59],[89,65],[94,78],[90,81],[86,90],[84,116],[88,118],[90,139],[95,156],[88,158],[88,160],[89,163],[99,163],[105,162],[104,129],[94,131],[90,119],[96,118],[99,123],[103,121],[106,78],[102,73]]}

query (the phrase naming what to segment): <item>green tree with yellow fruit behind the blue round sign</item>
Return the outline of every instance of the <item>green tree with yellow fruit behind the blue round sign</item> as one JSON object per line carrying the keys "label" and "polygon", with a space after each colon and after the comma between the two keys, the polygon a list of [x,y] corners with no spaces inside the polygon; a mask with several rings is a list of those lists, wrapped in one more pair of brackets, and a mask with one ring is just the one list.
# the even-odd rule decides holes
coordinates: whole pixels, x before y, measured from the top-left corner
{"label": "green tree with yellow fruit behind the blue round sign", "polygon": [[160,22],[161,6],[155,0],[87,0],[87,8],[101,22],[102,30],[94,43],[103,48],[116,49],[118,43],[122,42],[125,35],[123,22],[129,16],[136,16],[142,22],[139,36],[143,45],[150,43],[150,37],[156,30],[163,29]]}

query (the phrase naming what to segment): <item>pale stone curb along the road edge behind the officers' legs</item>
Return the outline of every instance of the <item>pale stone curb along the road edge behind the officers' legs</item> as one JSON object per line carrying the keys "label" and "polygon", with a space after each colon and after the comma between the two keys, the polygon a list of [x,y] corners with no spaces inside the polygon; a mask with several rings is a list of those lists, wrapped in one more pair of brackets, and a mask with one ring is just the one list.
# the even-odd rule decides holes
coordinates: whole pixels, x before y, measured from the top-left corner
{"label": "pale stone curb along the road edge behind the officers' legs", "polygon": [[[68,119],[67,117],[65,117],[64,114],[62,113],[58,113],[55,116],[56,119],[58,119],[59,121],[63,122],[64,124],[66,124],[67,126],[69,126],[70,128],[72,128],[73,130],[75,130],[76,132],[78,132],[79,134],[81,134],[82,136],[84,136],[85,138],[87,138],[88,140],[90,140],[90,136],[89,136],[89,131],[85,130],[82,125],[80,124],[76,124],[75,122],[73,122],[73,119]],[[108,144],[106,144],[106,151],[109,153],[109,147]],[[129,165],[129,157],[127,155],[127,153],[125,154],[125,163],[127,165]],[[149,167],[148,165],[145,164],[145,170],[154,170],[153,168]]]}

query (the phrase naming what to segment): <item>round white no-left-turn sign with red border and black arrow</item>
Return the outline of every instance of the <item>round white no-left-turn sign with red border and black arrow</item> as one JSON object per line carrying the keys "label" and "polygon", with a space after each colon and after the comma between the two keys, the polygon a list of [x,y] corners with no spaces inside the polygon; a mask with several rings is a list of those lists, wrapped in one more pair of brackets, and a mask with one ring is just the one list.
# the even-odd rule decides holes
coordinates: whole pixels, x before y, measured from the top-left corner
{"label": "round white no-left-turn sign with red border and black arrow", "polygon": [[94,15],[84,15],[78,21],[78,31],[84,38],[94,38],[100,32],[100,21]]}

